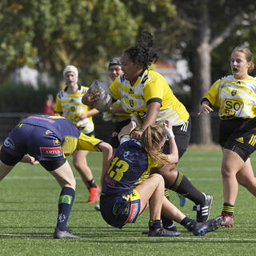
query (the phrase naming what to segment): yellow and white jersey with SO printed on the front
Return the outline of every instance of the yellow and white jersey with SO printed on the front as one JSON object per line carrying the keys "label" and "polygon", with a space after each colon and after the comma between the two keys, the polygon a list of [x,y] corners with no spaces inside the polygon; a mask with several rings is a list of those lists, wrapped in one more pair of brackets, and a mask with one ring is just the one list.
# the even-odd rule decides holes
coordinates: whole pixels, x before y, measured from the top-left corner
{"label": "yellow and white jersey with SO printed on the front", "polygon": [[237,80],[233,75],[218,79],[205,94],[212,106],[218,106],[219,118],[256,117],[256,78]]}

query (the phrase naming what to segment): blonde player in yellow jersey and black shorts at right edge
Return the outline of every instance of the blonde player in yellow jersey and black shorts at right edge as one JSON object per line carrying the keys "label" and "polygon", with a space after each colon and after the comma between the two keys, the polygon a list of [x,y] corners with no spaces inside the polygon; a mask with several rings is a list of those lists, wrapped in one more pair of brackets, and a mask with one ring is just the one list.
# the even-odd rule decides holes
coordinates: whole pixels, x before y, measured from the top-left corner
{"label": "blonde player in yellow jersey and black shorts at right edge", "polygon": [[256,142],[256,78],[254,58],[245,47],[234,48],[230,67],[232,75],[218,79],[202,99],[198,114],[209,114],[218,106],[220,118],[218,142],[222,146],[223,207],[222,226],[234,226],[234,204],[238,183],[256,196],[256,178],[250,154]]}

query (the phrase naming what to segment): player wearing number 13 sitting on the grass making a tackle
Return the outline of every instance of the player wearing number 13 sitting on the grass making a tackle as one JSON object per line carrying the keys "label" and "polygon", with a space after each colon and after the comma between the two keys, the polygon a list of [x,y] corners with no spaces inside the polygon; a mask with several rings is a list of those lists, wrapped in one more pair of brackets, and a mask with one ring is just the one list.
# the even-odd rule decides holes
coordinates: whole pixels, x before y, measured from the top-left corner
{"label": "player wearing number 13 sitting on the grass making a tackle", "polygon": [[[153,167],[178,162],[178,149],[170,122],[164,122],[164,129],[148,126],[142,134],[142,142],[125,136],[130,134],[135,126],[135,122],[130,122],[118,134],[121,138],[120,146],[102,180],[102,218],[111,226],[122,228],[126,223],[134,223],[138,215],[150,207],[149,237],[176,237],[181,234],[162,228],[161,214],[185,226],[194,235],[204,235],[218,229],[220,218],[196,222],[182,214],[165,198],[165,182],[162,175],[149,176]],[[162,153],[166,137],[170,141],[170,154]],[[149,177],[136,186],[142,175]]]}

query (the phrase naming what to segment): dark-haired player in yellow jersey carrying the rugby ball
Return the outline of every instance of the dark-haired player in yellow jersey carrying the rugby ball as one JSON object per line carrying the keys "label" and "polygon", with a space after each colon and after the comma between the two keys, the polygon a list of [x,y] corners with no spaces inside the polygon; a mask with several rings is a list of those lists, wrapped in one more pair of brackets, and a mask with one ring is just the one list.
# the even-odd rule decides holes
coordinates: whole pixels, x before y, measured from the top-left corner
{"label": "dark-haired player in yellow jersey carrying the rugby ball", "polygon": [[[123,74],[110,86],[112,97],[119,100],[122,107],[118,109],[110,106],[110,112],[125,110],[134,114],[137,126],[132,131],[131,138],[137,140],[142,138],[146,127],[154,124],[162,126],[164,120],[169,120],[178,146],[178,158],[181,158],[190,142],[190,114],[175,97],[166,79],[158,72],[150,70],[150,65],[158,60],[158,54],[153,46],[152,35],[144,31],[139,42],[122,54]],[[90,105],[97,100],[96,91],[88,91],[82,98],[83,103]],[[166,142],[163,152],[168,154],[169,143]],[[210,215],[212,196],[195,188],[184,174],[175,169],[175,166],[176,164],[163,166],[156,171],[162,174],[167,189],[174,190],[195,203],[193,209],[197,210],[197,221],[206,222]],[[168,197],[166,194],[166,198]],[[173,229],[174,222],[170,219],[162,216],[162,223],[166,229]],[[174,228],[176,229],[175,226]]]}

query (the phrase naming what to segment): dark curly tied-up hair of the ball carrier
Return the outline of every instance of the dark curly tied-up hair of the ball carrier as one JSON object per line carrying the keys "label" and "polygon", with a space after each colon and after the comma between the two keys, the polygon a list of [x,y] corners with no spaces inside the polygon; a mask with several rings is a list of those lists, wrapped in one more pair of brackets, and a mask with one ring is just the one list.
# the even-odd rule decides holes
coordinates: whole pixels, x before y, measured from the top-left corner
{"label": "dark curly tied-up hair of the ball carrier", "polygon": [[143,69],[147,70],[152,63],[158,61],[158,53],[153,49],[153,46],[153,35],[144,30],[136,45],[131,46],[124,53],[129,56],[132,62],[142,65]]}

